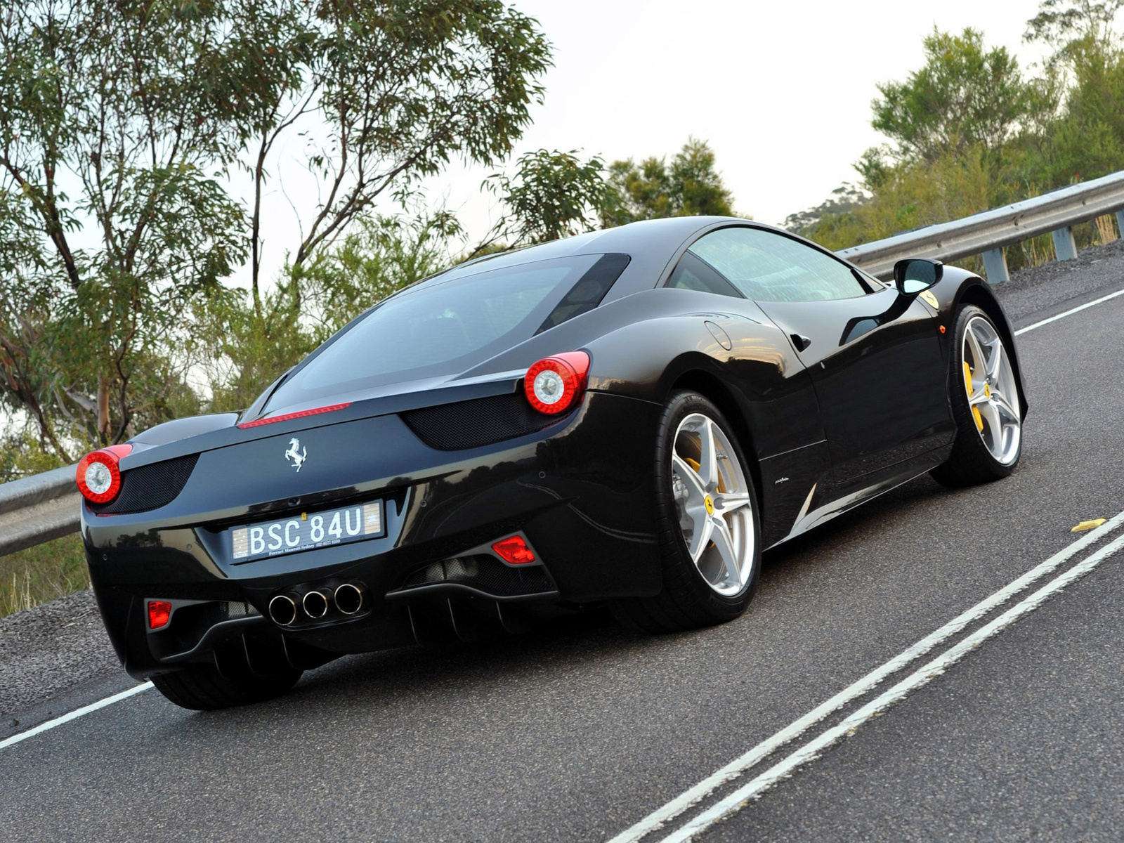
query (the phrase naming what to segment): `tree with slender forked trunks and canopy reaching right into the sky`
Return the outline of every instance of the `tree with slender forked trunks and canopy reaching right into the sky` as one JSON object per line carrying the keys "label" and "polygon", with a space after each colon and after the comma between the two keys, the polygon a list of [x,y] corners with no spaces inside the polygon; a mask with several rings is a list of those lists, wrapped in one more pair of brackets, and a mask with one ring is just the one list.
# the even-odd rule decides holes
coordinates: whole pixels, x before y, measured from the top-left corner
{"label": "tree with slender forked trunks and canopy reaching right into the sky", "polygon": [[[253,0],[246,0],[253,7]],[[453,157],[490,165],[502,160],[541,102],[538,76],[550,45],[536,24],[502,0],[290,0],[298,24],[280,31],[277,64],[284,80],[255,111],[252,167],[252,285],[259,306],[262,187],[270,153],[303,133],[306,161],[324,197],[290,251],[300,268],[346,234],[353,219],[387,194],[402,199],[414,182]],[[272,44],[272,42],[268,42]],[[279,58],[288,44],[307,64]],[[323,127],[311,139],[310,118]]]}

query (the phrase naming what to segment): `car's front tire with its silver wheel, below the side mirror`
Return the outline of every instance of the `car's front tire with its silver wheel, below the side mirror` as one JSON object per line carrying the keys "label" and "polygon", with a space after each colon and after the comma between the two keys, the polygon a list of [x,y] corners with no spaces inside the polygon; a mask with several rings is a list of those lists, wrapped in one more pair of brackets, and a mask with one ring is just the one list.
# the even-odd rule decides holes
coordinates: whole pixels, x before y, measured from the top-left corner
{"label": "car's front tire with its silver wheel, below the side mirror", "polygon": [[1022,410],[1010,353],[990,317],[971,305],[962,308],[953,336],[949,401],[957,438],[948,462],[931,473],[941,484],[960,488],[1015,470],[1023,451]]}

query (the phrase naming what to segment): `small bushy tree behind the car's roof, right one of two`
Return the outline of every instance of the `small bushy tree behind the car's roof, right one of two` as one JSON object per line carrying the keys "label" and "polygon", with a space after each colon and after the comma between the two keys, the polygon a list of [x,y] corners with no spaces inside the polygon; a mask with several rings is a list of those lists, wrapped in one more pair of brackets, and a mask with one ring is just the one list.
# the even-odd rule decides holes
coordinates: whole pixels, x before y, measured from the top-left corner
{"label": "small bushy tree behind the car's roof, right one of two", "polygon": [[688,138],[670,167],[664,158],[645,158],[640,165],[632,158],[615,161],[609,184],[615,201],[602,210],[606,227],[660,217],[734,216],[733,196],[706,140]]}

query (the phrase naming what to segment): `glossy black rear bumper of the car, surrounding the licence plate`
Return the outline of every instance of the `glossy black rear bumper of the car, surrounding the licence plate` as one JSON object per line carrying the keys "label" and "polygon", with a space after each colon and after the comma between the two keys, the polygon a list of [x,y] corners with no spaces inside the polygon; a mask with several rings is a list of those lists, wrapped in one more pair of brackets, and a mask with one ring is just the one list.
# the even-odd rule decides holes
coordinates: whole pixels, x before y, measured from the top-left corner
{"label": "glossy black rear bumper of the car, surrounding the licence plate", "polygon": [[[556,425],[469,451],[435,451],[398,416],[321,427],[315,434],[324,444],[315,444],[320,452],[328,444],[333,453],[343,450],[345,468],[301,478],[299,495],[269,478],[264,492],[261,484],[253,487],[246,473],[255,470],[256,452],[241,460],[233,451],[205,452],[183,492],[161,509],[97,516],[83,507],[87,559],[110,638],[126,669],[144,678],[211,658],[216,624],[232,635],[255,631],[346,653],[404,643],[404,629],[420,637],[413,628],[417,616],[435,605],[439,614],[450,599],[479,608],[489,601],[589,604],[655,593],[661,580],[651,470],[659,410],[646,401],[590,392]],[[380,447],[364,451],[361,442]],[[272,454],[283,443],[259,439],[254,446]],[[248,488],[255,491],[247,495]],[[278,493],[291,497],[271,499]],[[232,558],[232,526],[372,498],[386,501],[382,537],[241,564]],[[439,582],[424,575],[434,563],[514,533],[528,540],[546,572],[523,578],[522,592],[518,577]],[[495,573],[496,566],[489,570]],[[356,616],[284,628],[269,619],[274,596],[343,582],[362,583],[366,591],[369,602]],[[148,599],[245,605],[248,615],[185,611],[196,617],[194,626],[187,632],[181,626],[173,638],[171,629],[148,632]],[[200,616],[218,620],[208,625]],[[171,627],[176,623],[173,614]]]}

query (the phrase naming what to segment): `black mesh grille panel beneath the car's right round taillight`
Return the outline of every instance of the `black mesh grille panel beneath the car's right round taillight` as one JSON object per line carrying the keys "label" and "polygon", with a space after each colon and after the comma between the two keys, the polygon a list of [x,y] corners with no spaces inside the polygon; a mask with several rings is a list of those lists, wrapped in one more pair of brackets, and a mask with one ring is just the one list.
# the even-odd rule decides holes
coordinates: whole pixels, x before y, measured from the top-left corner
{"label": "black mesh grille panel beneath the car's right round taillight", "polygon": [[459,451],[526,436],[559,420],[531,408],[520,392],[443,404],[401,414],[402,420],[429,447]]}

